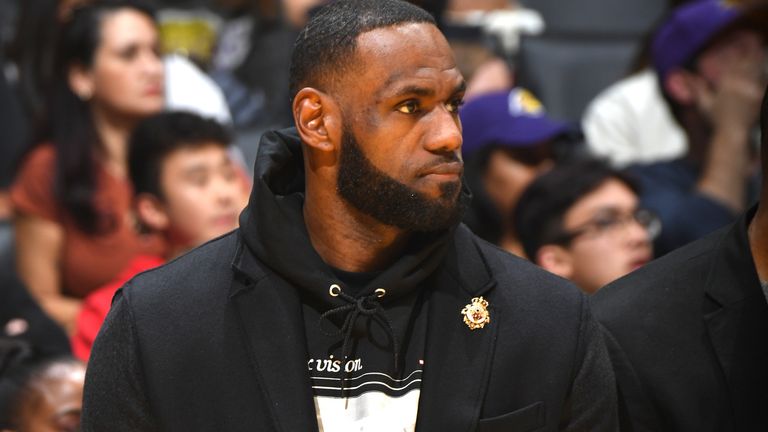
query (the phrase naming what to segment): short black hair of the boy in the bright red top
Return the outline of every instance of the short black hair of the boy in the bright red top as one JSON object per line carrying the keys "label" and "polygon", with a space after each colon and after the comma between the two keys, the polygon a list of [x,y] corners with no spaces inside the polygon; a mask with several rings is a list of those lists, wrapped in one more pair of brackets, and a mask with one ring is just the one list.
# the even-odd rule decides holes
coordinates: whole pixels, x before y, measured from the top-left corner
{"label": "short black hair of the boy in the bright red top", "polygon": [[163,197],[160,174],[169,154],[201,145],[226,147],[230,140],[220,123],[190,112],[163,112],[144,119],[128,144],[128,172],[134,192]]}

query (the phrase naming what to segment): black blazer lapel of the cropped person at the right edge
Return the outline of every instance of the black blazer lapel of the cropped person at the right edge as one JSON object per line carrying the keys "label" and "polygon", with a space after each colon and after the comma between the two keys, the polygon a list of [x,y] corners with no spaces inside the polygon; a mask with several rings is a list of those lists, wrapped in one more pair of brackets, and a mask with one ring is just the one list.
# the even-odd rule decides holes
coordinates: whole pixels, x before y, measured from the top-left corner
{"label": "black blazer lapel of the cropped person at the right edge", "polygon": [[705,281],[705,305],[710,307],[705,306],[704,321],[737,427],[743,421],[756,424],[755,416],[768,404],[768,304],[749,249],[750,216],[727,232]]}

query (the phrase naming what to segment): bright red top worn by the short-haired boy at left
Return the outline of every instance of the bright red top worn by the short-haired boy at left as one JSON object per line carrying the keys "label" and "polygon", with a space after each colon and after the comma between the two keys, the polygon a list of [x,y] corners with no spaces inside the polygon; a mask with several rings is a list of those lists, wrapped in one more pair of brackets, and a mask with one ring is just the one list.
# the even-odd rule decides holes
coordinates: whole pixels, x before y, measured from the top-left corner
{"label": "bright red top worn by the short-haired boy at left", "polygon": [[102,288],[88,294],[77,316],[75,334],[72,336],[72,353],[75,357],[88,361],[93,341],[99,333],[104,318],[112,306],[112,297],[118,289],[137,274],[163,265],[165,260],[155,256],[138,256],[131,261],[120,275]]}

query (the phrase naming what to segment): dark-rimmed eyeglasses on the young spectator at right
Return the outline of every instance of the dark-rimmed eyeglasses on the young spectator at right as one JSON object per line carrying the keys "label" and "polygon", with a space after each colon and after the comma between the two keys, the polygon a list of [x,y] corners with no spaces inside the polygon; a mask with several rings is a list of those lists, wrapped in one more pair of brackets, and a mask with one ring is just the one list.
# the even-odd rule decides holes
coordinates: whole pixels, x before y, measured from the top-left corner
{"label": "dark-rimmed eyeglasses on the young spectator at right", "polygon": [[566,245],[584,235],[594,237],[615,235],[629,226],[630,222],[636,222],[643,227],[651,240],[661,232],[661,221],[655,213],[648,209],[637,209],[631,213],[613,212],[596,216],[578,228],[563,232],[552,243]]}

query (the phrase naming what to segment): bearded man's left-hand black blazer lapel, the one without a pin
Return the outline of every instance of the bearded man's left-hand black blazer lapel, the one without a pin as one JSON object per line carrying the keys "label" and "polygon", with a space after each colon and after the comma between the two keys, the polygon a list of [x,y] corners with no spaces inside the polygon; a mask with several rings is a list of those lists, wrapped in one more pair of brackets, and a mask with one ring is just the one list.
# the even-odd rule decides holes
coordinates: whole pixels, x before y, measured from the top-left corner
{"label": "bearded man's left-hand black blazer lapel, the one without a pin", "polygon": [[245,249],[233,262],[230,296],[268,412],[276,430],[317,431],[299,296]]}

